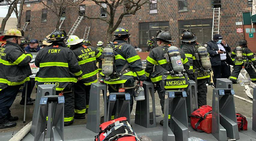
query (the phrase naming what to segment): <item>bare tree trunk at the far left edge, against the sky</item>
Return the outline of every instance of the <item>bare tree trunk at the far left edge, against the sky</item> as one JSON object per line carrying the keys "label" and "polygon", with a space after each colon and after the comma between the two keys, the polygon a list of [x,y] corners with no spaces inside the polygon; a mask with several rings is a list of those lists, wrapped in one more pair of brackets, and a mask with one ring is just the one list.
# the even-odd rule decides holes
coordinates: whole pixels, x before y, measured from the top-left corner
{"label": "bare tree trunk at the far left edge, against the sky", "polygon": [[3,18],[3,21],[1,23],[0,34],[3,34],[3,32],[5,31],[6,22],[9,19],[9,17],[11,17],[11,14],[14,11],[14,9],[16,8],[19,0],[5,0],[5,2],[9,3],[9,8],[8,8],[8,12],[7,12],[5,18]]}

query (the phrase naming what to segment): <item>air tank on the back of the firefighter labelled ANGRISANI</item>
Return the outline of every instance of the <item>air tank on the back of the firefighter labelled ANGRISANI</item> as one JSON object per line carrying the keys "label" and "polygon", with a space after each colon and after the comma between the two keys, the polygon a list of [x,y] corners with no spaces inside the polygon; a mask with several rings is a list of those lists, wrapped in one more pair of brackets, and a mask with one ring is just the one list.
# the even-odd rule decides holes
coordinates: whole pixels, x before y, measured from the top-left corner
{"label": "air tank on the back of the firefighter labelled ANGRISANI", "polygon": [[170,46],[168,48],[168,54],[172,63],[173,71],[182,72],[184,70],[184,66],[180,57],[180,52],[176,46]]}

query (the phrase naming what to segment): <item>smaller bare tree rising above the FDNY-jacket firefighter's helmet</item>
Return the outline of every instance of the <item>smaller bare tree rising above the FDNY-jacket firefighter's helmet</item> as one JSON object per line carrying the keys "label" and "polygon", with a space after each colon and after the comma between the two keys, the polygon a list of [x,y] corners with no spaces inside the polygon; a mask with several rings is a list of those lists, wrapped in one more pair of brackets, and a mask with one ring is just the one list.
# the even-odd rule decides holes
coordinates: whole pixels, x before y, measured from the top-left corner
{"label": "smaller bare tree rising above the FDNY-jacket firefighter's helmet", "polygon": [[[56,23],[56,29],[59,29],[60,19],[63,16],[63,11],[68,7],[78,6],[85,0],[38,0],[43,3],[54,15],[57,16],[58,20]],[[48,3],[50,2],[50,3]]]}

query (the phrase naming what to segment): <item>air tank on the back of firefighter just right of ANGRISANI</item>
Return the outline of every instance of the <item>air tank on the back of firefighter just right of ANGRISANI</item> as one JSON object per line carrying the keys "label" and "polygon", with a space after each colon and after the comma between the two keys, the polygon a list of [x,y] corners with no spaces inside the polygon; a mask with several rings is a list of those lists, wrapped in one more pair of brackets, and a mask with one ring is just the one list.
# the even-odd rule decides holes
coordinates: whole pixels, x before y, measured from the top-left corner
{"label": "air tank on the back of firefighter just right of ANGRISANI", "polygon": [[203,46],[200,46],[197,49],[197,52],[199,54],[199,58],[200,58],[200,61],[202,63],[202,67],[204,69],[210,69],[211,68],[211,61],[210,61],[210,57],[208,55],[207,49]]}

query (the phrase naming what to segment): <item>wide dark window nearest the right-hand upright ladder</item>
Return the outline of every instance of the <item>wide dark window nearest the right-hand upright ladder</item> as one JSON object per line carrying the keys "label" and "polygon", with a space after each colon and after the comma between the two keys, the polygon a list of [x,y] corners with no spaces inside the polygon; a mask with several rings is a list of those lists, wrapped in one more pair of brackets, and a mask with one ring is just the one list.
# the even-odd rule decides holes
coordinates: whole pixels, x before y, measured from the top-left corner
{"label": "wide dark window nearest the right-hand upright ladder", "polygon": [[199,43],[204,44],[211,40],[213,27],[212,19],[178,21],[178,23],[180,35],[184,29],[188,29],[195,34]]}

